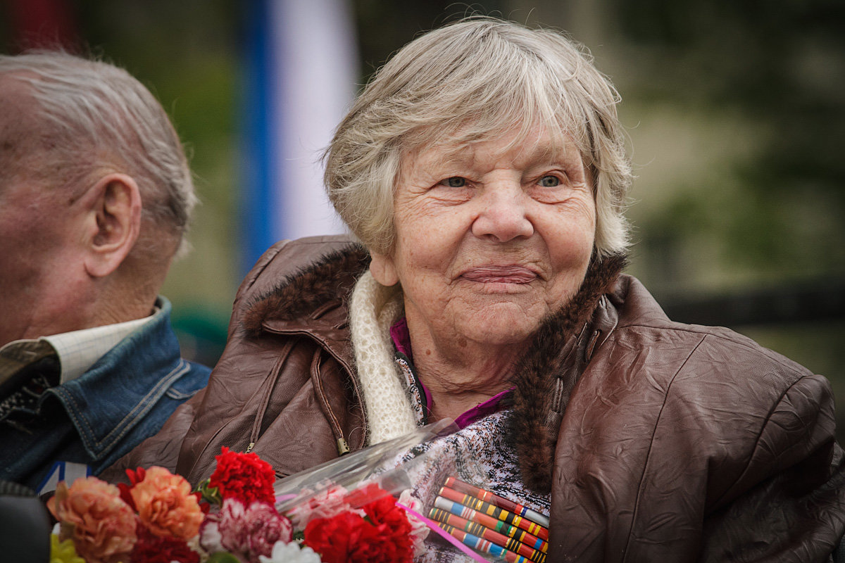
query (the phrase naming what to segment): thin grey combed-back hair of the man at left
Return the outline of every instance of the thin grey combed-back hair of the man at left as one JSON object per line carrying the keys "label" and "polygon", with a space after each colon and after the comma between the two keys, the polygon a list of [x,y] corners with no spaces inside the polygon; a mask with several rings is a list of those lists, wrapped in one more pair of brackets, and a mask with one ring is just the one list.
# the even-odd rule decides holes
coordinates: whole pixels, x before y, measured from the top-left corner
{"label": "thin grey combed-back hair of the man at left", "polygon": [[[143,84],[123,68],[63,51],[0,56],[0,76],[30,85],[39,131],[25,134],[47,138],[38,143],[45,151],[38,158],[53,181],[61,177],[61,187],[74,191],[99,171],[132,176],[142,217],[171,233],[180,249],[187,246],[184,235],[197,203],[194,181],[176,131]],[[161,246],[161,232],[149,235],[147,244]]]}

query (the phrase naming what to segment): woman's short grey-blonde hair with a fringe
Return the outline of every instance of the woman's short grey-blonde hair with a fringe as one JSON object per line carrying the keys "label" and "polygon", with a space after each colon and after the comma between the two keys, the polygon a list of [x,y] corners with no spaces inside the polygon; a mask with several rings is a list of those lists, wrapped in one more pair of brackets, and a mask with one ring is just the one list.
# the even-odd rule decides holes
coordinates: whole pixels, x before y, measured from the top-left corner
{"label": "woman's short grey-blonde hair with a fringe", "polygon": [[326,189],[363,244],[388,253],[404,154],[514,127],[520,143],[545,127],[581,151],[595,191],[597,254],[624,252],[632,176],[618,102],[586,50],[559,32],[464,19],[418,37],[374,75],[327,150]]}

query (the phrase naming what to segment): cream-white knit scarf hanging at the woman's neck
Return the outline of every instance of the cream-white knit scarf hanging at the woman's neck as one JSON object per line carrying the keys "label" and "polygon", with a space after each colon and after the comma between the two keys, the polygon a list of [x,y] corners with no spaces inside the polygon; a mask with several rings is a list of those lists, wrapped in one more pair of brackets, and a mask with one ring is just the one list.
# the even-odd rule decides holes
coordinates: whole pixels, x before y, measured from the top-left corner
{"label": "cream-white knit scarf hanging at the woman's neck", "polygon": [[364,272],[352,290],[349,325],[369,423],[368,445],[402,436],[417,427],[390,339],[390,327],[401,315],[399,286],[386,287],[371,273]]}

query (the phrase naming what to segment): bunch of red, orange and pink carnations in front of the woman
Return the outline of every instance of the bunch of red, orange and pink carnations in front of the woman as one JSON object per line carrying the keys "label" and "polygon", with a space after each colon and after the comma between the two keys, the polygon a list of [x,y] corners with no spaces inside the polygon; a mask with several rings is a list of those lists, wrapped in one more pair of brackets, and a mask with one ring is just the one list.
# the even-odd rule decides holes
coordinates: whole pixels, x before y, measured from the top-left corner
{"label": "bunch of red, orange and pink carnations in front of the woman", "polygon": [[428,531],[375,483],[330,486],[280,512],[270,464],[225,447],[197,492],[164,468],[128,476],[130,485],[59,484],[48,503],[59,522],[53,561],[411,563]]}

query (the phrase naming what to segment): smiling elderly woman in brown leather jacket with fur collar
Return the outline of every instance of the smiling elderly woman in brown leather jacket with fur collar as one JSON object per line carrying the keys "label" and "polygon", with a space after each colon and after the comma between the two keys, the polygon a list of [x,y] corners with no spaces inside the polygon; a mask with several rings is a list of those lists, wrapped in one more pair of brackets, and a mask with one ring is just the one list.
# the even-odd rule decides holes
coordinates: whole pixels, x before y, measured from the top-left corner
{"label": "smiling elderly woman in brown leather jacket with fur collar", "polygon": [[549,561],[827,560],[830,386],[620,273],[617,101],[553,31],[470,19],[403,48],[327,154],[362,244],[273,246],[204,394],[128,463],[197,482],[227,446],[292,474],[448,418],[550,515]]}

